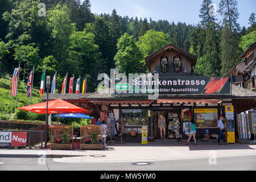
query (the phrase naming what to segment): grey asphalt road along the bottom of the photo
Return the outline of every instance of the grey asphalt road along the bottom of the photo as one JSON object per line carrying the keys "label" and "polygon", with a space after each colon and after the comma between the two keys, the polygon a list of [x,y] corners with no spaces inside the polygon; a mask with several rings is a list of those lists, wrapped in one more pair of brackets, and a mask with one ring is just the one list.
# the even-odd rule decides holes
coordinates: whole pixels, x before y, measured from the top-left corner
{"label": "grey asphalt road along the bottom of the photo", "polygon": [[51,158],[0,158],[0,171],[255,171],[256,155],[132,163],[56,163]]}

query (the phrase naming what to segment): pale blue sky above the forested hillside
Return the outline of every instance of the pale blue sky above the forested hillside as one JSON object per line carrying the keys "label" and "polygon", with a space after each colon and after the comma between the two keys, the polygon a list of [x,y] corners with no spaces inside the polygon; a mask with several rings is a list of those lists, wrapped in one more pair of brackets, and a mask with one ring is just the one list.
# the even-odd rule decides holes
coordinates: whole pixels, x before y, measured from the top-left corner
{"label": "pale blue sky above the forested hillside", "polygon": [[[218,10],[221,0],[213,0]],[[197,24],[200,22],[199,10],[203,0],[90,0],[92,13],[112,14],[113,9],[121,16],[135,16],[139,18],[150,18],[152,20],[168,20],[168,22]],[[256,13],[255,0],[237,0],[238,13],[240,13],[238,23],[240,26],[249,27],[248,19],[251,13]],[[217,13],[218,21],[221,16]]]}

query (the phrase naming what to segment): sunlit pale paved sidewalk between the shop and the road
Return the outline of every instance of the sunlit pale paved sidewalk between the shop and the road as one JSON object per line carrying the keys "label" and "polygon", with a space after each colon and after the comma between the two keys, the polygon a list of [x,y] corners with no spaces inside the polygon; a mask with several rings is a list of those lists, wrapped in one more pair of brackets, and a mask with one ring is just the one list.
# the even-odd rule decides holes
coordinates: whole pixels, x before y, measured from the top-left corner
{"label": "sunlit pale paved sidewalk between the shop and the road", "polygon": [[[210,157],[226,157],[241,155],[256,155],[256,145],[198,143],[189,146],[184,143],[113,143],[109,144],[109,150],[86,151],[58,151],[58,150],[0,150],[0,158],[3,157],[35,157],[42,155],[54,158],[60,163],[94,163],[94,162],[151,162],[156,160],[196,159]],[[94,155],[94,156],[93,156]],[[102,156],[103,155],[103,156]]]}

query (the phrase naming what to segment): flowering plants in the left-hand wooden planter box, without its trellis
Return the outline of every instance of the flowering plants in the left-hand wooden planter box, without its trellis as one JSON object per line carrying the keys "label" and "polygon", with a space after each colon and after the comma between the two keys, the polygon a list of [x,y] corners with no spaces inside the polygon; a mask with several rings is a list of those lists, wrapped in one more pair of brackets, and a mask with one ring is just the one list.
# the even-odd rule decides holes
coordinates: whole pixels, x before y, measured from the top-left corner
{"label": "flowering plants in the left-hand wooden planter box, without its trellis", "polygon": [[73,143],[70,143],[70,135],[64,133],[63,135],[51,136],[51,150],[72,150]]}

